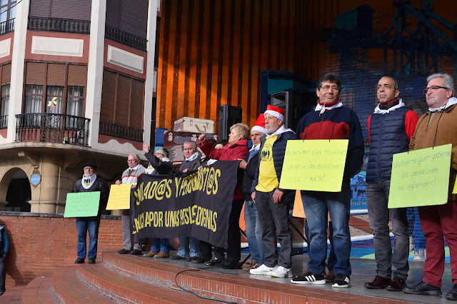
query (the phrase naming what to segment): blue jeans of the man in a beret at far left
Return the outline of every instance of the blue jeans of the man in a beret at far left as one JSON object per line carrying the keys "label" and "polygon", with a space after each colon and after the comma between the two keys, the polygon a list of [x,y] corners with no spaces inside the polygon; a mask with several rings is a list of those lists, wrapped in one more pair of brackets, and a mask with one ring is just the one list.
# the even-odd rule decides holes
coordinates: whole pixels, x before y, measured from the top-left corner
{"label": "blue jeans of the man in a beret at far left", "polygon": [[97,244],[99,243],[100,218],[76,218],[78,230],[78,258],[86,258],[86,237],[89,231],[89,258],[97,257]]}

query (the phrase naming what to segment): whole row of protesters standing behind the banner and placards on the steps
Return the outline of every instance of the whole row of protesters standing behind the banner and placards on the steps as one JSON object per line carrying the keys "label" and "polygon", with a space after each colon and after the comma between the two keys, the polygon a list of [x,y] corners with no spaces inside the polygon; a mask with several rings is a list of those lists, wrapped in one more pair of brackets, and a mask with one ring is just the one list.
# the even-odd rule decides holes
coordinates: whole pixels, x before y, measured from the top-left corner
{"label": "whole row of protesters standing behind the banner and placards on the steps", "polygon": [[[420,118],[399,98],[398,83],[392,76],[379,79],[376,88],[378,105],[368,118],[368,142],[370,145],[366,171],[366,197],[370,228],[373,230],[376,274],[368,289],[403,291],[419,295],[440,295],[441,278],[444,271],[444,238],[451,253],[453,288],[446,294],[449,300],[457,300],[457,196],[452,194],[457,170],[457,98],[454,98],[453,79],[448,74],[433,74],[427,78],[423,89],[428,111]],[[176,255],[169,254],[168,239],[152,240],[149,253],[152,258],[188,260],[221,268],[240,267],[241,235],[238,222],[244,206],[246,233],[253,263],[247,268],[251,275],[270,275],[289,278],[291,272],[292,233],[289,226],[289,206],[295,191],[279,187],[284,154],[288,140],[293,139],[347,139],[348,150],[340,192],[301,191],[306,213],[306,235],[308,238],[308,270],[291,279],[296,284],[325,284],[334,288],[351,286],[351,234],[349,217],[351,206],[350,181],[361,171],[364,141],[358,116],[339,100],[341,81],[334,74],[326,74],[316,88],[318,102],[314,111],[306,113],[298,123],[296,131],[284,126],[284,110],[268,105],[256,125],[249,128],[243,123],[231,126],[229,142],[211,145],[204,134],[199,141],[184,143],[185,160],[180,171],[193,171],[216,160],[238,161],[238,183],[233,193],[229,215],[228,246],[214,247],[192,237],[179,238],[181,245]],[[248,148],[248,138],[252,147]],[[437,206],[421,206],[407,212],[407,208],[388,208],[393,154],[415,151],[422,148],[451,143],[451,173],[449,176],[448,203]],[[198,148],[209,158],[202,160]],[[149,168],[141,166],[138,155],[128,158],[129,168],[122,173],[121,183],[136,183],[141,173],[167,174],[173,170],[169,152],[159,148],[156,153],[144,146]],[[96,166],[83,166],[84,176],[76,181],[74,192],[101,191],[100,208],[106,206],[108,188],[106,182],[96,176]],[[134,188],[134,186],[132,186]],[[418,211],[417,213],[415,211]],[[100,212],[99,212],[100,213]],[[411,214],[414,216],[411,216]],[[328,216],[331,219],[331,254],[327,257]],[[412,219],[413,218],[413,219]],[[416,223],[420,218],[425,241],[411,238],[408,221]],[[394,235],[392,248],[389,228]],[[89,263],[95,263],[96,243],[100,215],[93,218],[77,218],[78,259],[86,258],[86,231],[89,230]],[[131,244],[129,210],[122,211],[122,237],[124,248],[120,254],[141,254],[141,243]],[[415,232],[415,231],[414,231]],[[415,240],[415,243],[413,243]],[[281,250],[278,253],[277,243]],[[144,242],[146,243],[146,242]],[[419,244],[420,243],[420,244]],[[411,245],[418,255],[423,254],[426,243],[427,258],[423,279],[416,285],[407,285],[408,255]],[[422,251],[421,251],[422,250]],[[225,251],[227,255],[225,256]],[[421,258],[421,257],[419,257]],[[326,267],[329,273],[326,273]]]}

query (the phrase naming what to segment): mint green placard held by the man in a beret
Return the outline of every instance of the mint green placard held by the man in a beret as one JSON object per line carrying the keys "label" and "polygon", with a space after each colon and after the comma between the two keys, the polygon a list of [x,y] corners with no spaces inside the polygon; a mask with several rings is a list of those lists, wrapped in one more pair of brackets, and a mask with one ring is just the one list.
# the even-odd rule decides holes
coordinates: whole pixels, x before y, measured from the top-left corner
{"label": "mint green placard held by the man in a beret", "polygon": [[100,191],[67,193],[64,218],[84,218],[99,213]]}

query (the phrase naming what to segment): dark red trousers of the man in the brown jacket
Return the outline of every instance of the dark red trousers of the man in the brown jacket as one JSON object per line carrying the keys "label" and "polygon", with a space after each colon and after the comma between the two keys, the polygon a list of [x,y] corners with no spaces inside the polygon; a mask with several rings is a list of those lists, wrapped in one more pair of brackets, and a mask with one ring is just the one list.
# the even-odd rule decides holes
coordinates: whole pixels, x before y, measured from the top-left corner
{"label": "dark red trousers of the man in the brown jacket", "polygon": [[[451,254],[452,282],[457,283],[457,202],[418,207],[423,234],[427,240],[427,260],[423,281],[441,288],[444,272],[444,238]],[[443,238],[444,235],[444,238]]]}

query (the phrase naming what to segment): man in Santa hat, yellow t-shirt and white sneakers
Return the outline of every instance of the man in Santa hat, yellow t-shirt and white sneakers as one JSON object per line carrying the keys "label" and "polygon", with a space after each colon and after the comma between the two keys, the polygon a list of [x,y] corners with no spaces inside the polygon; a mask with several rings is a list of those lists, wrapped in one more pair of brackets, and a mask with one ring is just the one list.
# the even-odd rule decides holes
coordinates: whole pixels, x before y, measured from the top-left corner
{"label": "man in Santa hat, yellow t-shirt and white sneakers", "polygon": [[[293,193],[279,188],[279,181],[287,141],[296,139],[296,136],[283,126],[284,112],[282,108],[268,105],[263,113],[268,135],[261,138],[258,169],[251,187],[251,198],[256,202],[262,226],[263,264],[249,273],[275,278],[292,276],[292,232],[288,225],[289,201],[285,194]],[[281,244],[279,255],[276,238]]]}

